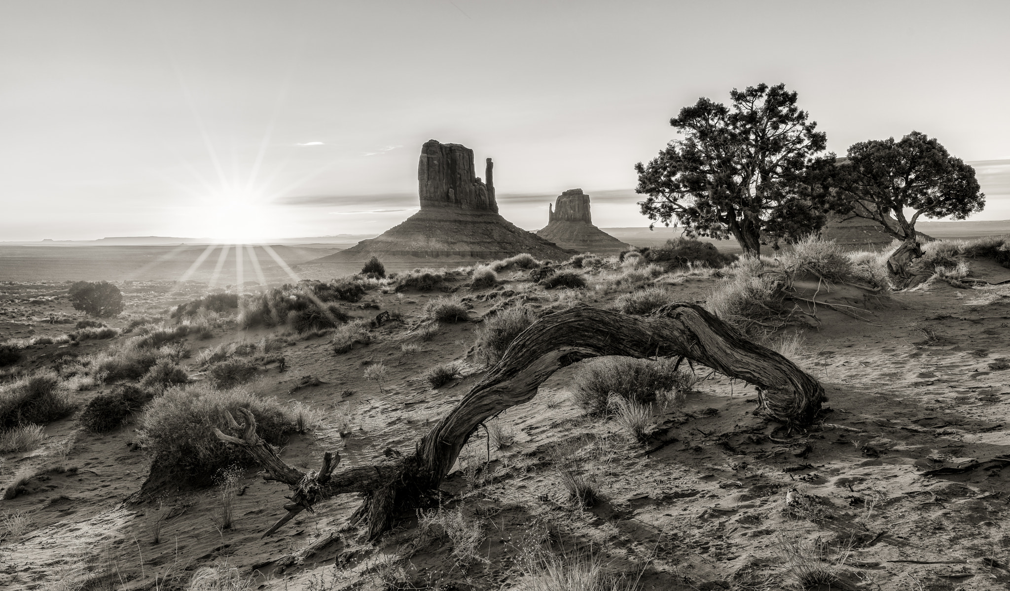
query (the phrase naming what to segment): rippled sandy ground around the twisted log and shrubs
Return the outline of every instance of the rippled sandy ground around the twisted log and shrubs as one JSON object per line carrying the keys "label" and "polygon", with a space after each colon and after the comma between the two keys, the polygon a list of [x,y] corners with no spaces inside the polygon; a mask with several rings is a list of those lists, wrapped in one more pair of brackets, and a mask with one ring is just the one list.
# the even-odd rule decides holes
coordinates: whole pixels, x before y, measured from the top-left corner
{"label": "rippled sandy ground around the twisted log and shrubs", "polygon": [[[989,280],[1010,278],[998,266],[979,269]],[[681,301],[703,302],[717,280],[669,288]],[[516,273],[498,289],[526,285]],[[332,427],[293,437],[286,461],[317,469],[325,450],[338,450],[345,466],[371,462],[387,447],[407,451],[459,401],[483,370],[468,357],[478,324],[445,325],[434,340],[419,343],[419,353],[400,349],[416,341],[410,323],[437,296],[370,292],[363,304],[399,310],[408,323],[379,329],[372,345],[345,355],[334,355],[324,338],[298,341],[284,351],[287,371],[265,368],[257,386],[263,392],[352,417],[350,437]],[[584,299],[606,306],[617,296],[590,290]],[[137,299],[127,312],[186,297]],[[474,300],[471,318],[496,303]],[[560,306],[542,292],[531,303]],[[36,305],[5,304],[4,337],[29,328],[59,331],[59,325],[28,327],[30,306]],[[22,511],[31,521],[22,540],[0,546],[0,588],[56,588],[92,572],[111,573],[105,580],[114,588],[168,589],[185,585],[199,567],[226,564],[243,575],[255,571],[256,586],[265,589],[381,589],[382,578],[396,573],[416,588],[499,589],[521,583],[525,550],[549,543],[592,549],[613,572],[640,575],[643,589],[796,589],[782,550],[794,542],[838,565],[841,581],[832,589],[1006,589],[1010,480],[1000,463],[986,462],[1010,454],[1010,373],[1003,369],[1010,358],[1010,288],[932,283],[880,299],[866,313],[869,321],[823,309],[816,315],[820,326],[802,333],[793,358],[824,383],[830,401],[823,422],[806,432],[754,418],[752,387],[699,367],[705,379],[698,391],[682,410],[658,412],[660,430],[639,445],[571,401],[568,384],[578,364],[554,374],[532,401],[502,417],[515,443],[489,451],[479,432],[460,467],[481,469],[454,472],[443,486],[444,508],[462,507],[486,536],[481,559],[470,565],[458,564],[446,539],[418,545],[410,514],[378,545],[361,542],[346,523],[360,500],[354,495],[317,505],[315,513],[261,539],[284,514],[289,493],[257,478],[256,470],[242,482],[247,487],[236,497],[231,529],[215,525],[215,489],[169,489],[126,502],[147,469],[142,452],[127,445],[135,424],[99,437],[78,433],[72,419],[54,423],[43,448],[0,464],[6,478],[69,449],[65,463],[76,468],[35,479],[28,494],[0,501],[0,512]],[[15,332],[14,325],[24,328]],[[262,334],[232,331],[190,346],[196,351]],[[30,366],[60,349],[29,352],[37,358]],[[363,377],[369,360],[391,370],[382,394]],[[466,364],[462,379],[430,389],[420,378],[451,360]],[[323,383],[295,388],[309,375]],[[83,402],[95,393],[78,394]],[[550,462],[554,446],[583,460],[601,502],[589,509],[569,502]],[[981,466],[962,473],[923,474],[976,462]]]}

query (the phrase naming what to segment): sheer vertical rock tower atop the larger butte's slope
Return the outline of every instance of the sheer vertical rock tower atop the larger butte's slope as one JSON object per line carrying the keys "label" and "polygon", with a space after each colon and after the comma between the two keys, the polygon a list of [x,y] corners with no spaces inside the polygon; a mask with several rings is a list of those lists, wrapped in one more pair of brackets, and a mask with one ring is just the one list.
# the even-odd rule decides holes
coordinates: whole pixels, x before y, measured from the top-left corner
{"label": "sheer vertical rock tower atop the larger butte's slope", "polygon": [[421,148],[417,164],[417,184],[421,209],[460,208],[498,213],[495,202],[494,163],[487,159],[485,178],[475,175],[474,150],[458,143],[439,143],[429,139]]}

